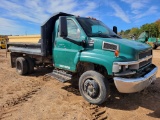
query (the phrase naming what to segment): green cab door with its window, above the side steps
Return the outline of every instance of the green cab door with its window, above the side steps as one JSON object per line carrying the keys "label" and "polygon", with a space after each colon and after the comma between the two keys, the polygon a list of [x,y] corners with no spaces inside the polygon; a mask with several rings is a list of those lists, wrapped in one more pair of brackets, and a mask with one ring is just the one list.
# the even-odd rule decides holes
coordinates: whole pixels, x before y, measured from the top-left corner
{"label": "green cab door with its window, above the side steps", "polygon": [[[79,26],[73,19],[67,19],[68,38],[82,41]],[[59,31],[55,36],[53,48],[53,60],[55,67],[75,71],[79,51],[82,46],[76,45],[59,36]]]}

